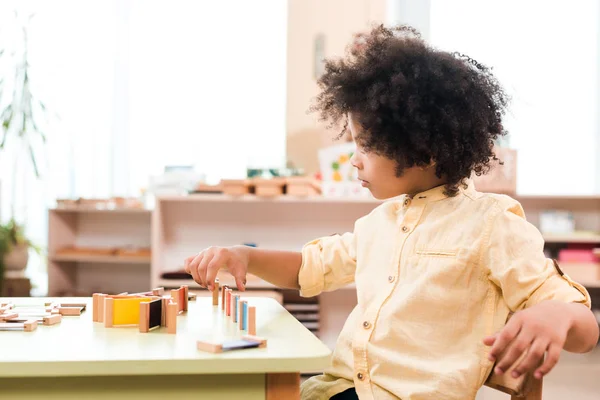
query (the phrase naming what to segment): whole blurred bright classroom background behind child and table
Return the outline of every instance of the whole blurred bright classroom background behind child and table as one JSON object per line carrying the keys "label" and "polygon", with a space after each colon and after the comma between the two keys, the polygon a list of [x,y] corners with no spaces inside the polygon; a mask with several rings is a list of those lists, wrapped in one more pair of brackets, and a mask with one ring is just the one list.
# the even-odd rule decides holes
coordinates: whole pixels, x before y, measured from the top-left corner
{"label": "whole blurred bright classroom background behind child and table", "polygon": [[[3,294],[176,286],[169,273],[205,245],[299,249],[351,229],[377,202],[348,169],[351,144],[307,110],[323,59],[375,23],[493,67],[509,136],[504,167],[477,187],[521,201],[547,254],[597,298],[596,0],[3,0]],[[328,344],[353,290],[303,303]],[[598,352],[565,357],[546,392],[598,398]]]}

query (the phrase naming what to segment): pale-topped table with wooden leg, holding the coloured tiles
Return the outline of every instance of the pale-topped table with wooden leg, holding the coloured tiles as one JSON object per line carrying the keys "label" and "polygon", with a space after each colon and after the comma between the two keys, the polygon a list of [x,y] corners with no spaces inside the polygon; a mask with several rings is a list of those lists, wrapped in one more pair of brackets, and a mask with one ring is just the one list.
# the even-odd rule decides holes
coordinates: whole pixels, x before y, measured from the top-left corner
{"label": "pale-topped table with wooden leg, holding the coloured tiles", "polygon": [[240,331],[210,298],[190,302],[175,335],[166,328],[104,328],[92,321],[91,298],[0,298],[89,304],[81,316],[54,326],[0,332],[0,398],[299,398],[299,373],[326,367],[329,348],[277,301],[247,300],[256,306],[256,333],[267,338],[267,348],[211,354],[198,351],[196,341],[234,339]]}

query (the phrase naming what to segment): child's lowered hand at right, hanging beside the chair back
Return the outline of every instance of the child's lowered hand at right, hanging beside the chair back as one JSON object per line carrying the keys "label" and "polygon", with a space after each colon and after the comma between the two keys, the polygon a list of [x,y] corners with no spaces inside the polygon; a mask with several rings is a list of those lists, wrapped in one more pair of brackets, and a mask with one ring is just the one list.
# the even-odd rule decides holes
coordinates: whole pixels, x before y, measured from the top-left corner
{"label": "child's lowered hand at right, hanging beside the chair back", "polygon": [[558,362],[572,324],[563,308],[564,303],[544,301],[515,313],[500,332],[486,337],[483,343],[492,346],[489,359],[498,360],[495,373],[507,371],[524,352],[527,355],[513,370],[514,378],[534,370],[546,352],[548,355],[534,376],[540,379],[550,372]]}

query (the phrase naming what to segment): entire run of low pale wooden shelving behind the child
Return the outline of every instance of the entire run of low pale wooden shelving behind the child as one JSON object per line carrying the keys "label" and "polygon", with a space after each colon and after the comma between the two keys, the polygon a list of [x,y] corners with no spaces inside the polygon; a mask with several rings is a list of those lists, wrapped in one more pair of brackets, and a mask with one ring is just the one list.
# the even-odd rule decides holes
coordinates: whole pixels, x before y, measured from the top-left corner
{"label": "entire run of low pale wooden shelving behind the child", "polygon": [[[598,244],[600,252],[600,196],[518,196],[527,219],[539,226],[539,214],[548,209],[573,212],[575,224],[592,234],[544,235],[547,250],[555,255],[572,243]],[[299,251],[320,236],[353,229],[354,221],[381,202],[366,198],[194,194],[164,196],[154,210],[53,209],[49,215],[49,295],[93,291],[144,291],[152,287],[190,290],[207,295],[189,279],[164,279],[164,272],[181,270],[186,257],[208,246],[253,243],[259,247]],[[150,257],[115,255],[61,255],[71,246],[149,246]],[[574,279],[600,296],[600,265],[562,263]],[[222,284],[235,287],[226,272]],[[331,348],[347,315],[356,305],[355,285],[300,299],[264,280],[249,276],[246,295],[270,293],[298,314],[307,328]]]}

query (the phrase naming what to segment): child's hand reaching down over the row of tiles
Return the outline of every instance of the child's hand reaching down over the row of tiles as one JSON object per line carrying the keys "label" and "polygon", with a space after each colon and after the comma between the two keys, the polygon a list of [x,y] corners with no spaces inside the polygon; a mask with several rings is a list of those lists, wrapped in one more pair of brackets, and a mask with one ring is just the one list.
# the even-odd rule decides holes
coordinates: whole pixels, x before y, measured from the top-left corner
{"label": "child's hand reaching down over the row of tiles", "polygon": [[185,259],[185,272],[194,277],[202,287],[213,290],[219,269],[226,268],[235,278],[238,290],[246,289],[249,254],[245,246],[209,247]]}

